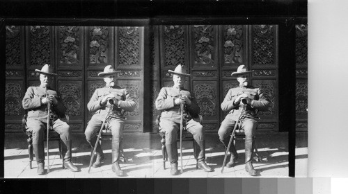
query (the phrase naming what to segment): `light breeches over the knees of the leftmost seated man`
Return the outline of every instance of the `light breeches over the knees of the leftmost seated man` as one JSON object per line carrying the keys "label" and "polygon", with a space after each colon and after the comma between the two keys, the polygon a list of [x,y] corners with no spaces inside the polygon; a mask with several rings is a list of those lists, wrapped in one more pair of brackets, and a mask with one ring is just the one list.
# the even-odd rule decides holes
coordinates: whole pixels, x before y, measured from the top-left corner
{"label": "light breeches over the knees of the leftmost seated man", "polygon": [[[26,121],[26,130],[31,132],[33,136],[33,143],[40,143],[44,140],[45,130],[47,130],[47,123],[35,118],[28,118]],[[53,130],[61,137],[62,141],[70,141],[70,127],[64,121],[57,119],[53,122]]]}

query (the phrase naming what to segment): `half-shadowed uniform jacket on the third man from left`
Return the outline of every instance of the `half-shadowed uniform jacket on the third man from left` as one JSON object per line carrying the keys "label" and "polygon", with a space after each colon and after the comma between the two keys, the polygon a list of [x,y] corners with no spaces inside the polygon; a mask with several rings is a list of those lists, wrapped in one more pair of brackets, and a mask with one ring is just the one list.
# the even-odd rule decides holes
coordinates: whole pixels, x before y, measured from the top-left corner
{"label": "half-shadowed uniform jacket on the third man from left", "polygon": [[187,89],[179,89],[173,87],[163,87],[159,91],[158,97],[156,99],[156,108],[162,111],[161,118],[173,118],[180,120],[180,105],[175,105],[174,100],[182,96],[189,96],[191,100],[191,105],[184,105],[184,118],[187,121],[192,117],[195,118],[200,112],[200,107],[198,107],[196,99],[191,95]]}

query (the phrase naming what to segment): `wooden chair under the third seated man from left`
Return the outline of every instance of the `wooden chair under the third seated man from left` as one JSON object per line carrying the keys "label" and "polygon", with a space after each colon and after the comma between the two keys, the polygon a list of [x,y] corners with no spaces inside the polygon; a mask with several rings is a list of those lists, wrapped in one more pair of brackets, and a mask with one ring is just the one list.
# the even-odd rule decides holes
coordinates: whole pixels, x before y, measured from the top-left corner
{"label": "wooden chair under the third seated man from left", "polygon": [[[199,118],[199,123],[200,125],[203,124],[203,117],[202,115],[198,115]],[[161,126],[159,125],[160,121],[161,121],[161,114],[159,114],[157,116],[157,120],[156,120],[156,125],[157,125],[157,133],[161,136],[161,150],[162,150],[162,158],[163,158],[163,169],[166,169],[166,161],[168,161],[168,154],[167,154],[167,150],[166,150],[166,134],[164,134],[164,132],[161,132]],[[193,145],[193,155],[196,159],[196,144],[195,144],[195,140],[193,139],[193,135],[188,132],[187,130],[185,130],[186,126],[183,126],[183,132],[182,132],[182,141],[192,141],[192,145]],[[177,133],[180,137],[180,130],[177,130]],[[177,142],[180,142],[180,138],[177,139]],[[196,168],[198,168],[198,163],[197,163],[197,159],[196,159]]]}

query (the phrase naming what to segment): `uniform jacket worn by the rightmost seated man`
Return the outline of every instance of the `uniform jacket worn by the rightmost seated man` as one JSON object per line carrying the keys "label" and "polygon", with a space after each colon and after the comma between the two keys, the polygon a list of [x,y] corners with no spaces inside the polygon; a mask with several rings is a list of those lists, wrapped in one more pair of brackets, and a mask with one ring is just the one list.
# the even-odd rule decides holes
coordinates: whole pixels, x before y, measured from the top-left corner
{"label": "uniform jacket worn by the rightmost seated man", "polygon": [[250,105],[246,106],[246,111],[244,116],[248,118],[258,118],[257,110],[267,111],[270,105],[269,101],[264,97],[262,91],[259,88],[252,86],[247,87],[235,87],[228,91],[225,99],[221,103],[221,109],[224,112],[228,112],[226,118],[231,118],[234,121],[238,120],[240,109],[239,104],[236,105],[235,99],[241,94],[248,94],[248,97],[251,98]]}

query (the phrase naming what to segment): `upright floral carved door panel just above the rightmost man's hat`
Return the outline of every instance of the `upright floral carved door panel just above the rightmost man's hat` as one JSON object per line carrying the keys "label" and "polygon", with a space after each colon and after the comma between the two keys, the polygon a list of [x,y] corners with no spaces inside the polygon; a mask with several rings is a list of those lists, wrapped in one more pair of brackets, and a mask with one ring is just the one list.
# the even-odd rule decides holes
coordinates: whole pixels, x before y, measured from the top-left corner
{"label": "upright floral carved door panel just above the rightmost man's hat", "polygon": [[225,64],[242,63],[243,60],[243,26],[226,25],[223,31],[223,58]]}

